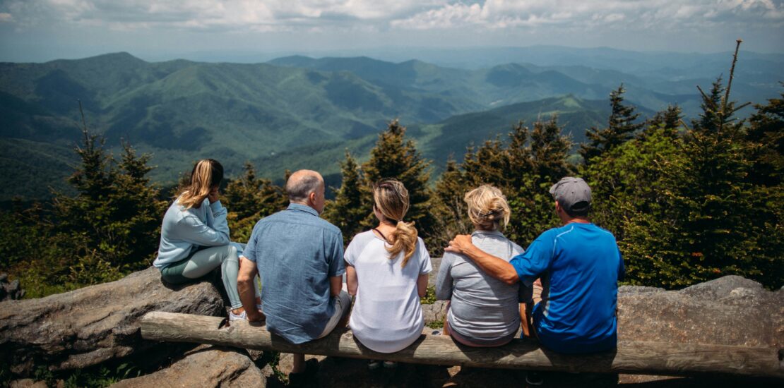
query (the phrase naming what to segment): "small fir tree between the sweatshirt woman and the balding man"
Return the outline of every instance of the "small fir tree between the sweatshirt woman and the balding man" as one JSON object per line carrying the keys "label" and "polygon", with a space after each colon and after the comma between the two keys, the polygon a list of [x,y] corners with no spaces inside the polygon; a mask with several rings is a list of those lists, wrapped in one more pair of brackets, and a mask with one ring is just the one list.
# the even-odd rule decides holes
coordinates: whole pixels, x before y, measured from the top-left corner
{"label": "small fir tree between the sweatshirt woman and the balding man", "polygon": [[248,241],[259,219],[285,209],[288,203],[283,188],[256,177],[250,161],[245,161],[245,175],[227,184],[223,198],[229,209],[227,219],[234,241]]}

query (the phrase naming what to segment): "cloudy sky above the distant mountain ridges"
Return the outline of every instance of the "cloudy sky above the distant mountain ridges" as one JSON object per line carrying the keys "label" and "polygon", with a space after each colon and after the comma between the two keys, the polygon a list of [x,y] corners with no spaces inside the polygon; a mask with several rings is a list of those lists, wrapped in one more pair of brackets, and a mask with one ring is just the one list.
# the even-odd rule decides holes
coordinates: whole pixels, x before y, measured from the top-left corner
{"label": "cloudy sky above the distant mountain ridges", "polygon": [[0,60],[476,46],[784,53],[784,0],[0,0]]}

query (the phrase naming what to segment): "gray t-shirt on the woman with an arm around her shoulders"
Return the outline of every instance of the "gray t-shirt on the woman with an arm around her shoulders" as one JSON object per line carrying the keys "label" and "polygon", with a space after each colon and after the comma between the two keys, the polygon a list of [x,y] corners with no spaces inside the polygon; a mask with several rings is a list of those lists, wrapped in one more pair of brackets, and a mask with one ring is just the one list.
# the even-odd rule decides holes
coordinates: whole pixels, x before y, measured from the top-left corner
{"label": "gray t-shirt on the woman with an arm around her shoulders", "polygon": [[[509,261],[523,252],[501,232],[477,230],[471,241],[492,256]],[[492,341],[514,335],[520,327],[522,288],[485,274],[463,255],[445,252],[436,280],[436,297],[451,300],[449,327],[471,339]]]}

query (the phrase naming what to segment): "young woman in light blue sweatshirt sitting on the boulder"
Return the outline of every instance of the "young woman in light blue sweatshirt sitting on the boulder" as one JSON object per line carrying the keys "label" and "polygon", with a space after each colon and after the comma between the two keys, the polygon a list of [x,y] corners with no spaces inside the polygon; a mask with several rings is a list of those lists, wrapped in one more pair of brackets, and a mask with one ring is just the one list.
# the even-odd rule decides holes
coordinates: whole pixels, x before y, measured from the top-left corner
{"label": "young woman in light blue sweatshirt sitting on the boulder", "polygon": [[[218,200],[223,165],[204,159],[194,165],[191,183],[163,216],[161,244],[153,265],[172,284],[197,279],[221,267],[223,287],[231,303],[231,319],[245,317],[237,292],[239,254],[243,244],[231,242],[227,210]],[[256,290],[256,299],[260,303]]]}

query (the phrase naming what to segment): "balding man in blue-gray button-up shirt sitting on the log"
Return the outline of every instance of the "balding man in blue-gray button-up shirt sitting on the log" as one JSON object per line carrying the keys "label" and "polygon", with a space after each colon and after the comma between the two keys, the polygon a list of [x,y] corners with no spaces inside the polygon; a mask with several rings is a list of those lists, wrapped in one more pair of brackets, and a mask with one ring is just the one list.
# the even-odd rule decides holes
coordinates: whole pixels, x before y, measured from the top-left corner
{"label": "balding man in blue-gray button-up shirt sitting on the log", "polygon": [[[286,182],[289,208],[264,217],[253,227],[240,257],[238,291],[248,321],[267,318],[267,330],[290,343],[306,343],[332,332],[350,310],[350,296],[341,291],[343,235],[321,219],[324,178],[310,170],[294,172]],[[256,308],[253,277],[261,275],[261,302]],[[296,380],[314,373],[295,354]]]}

